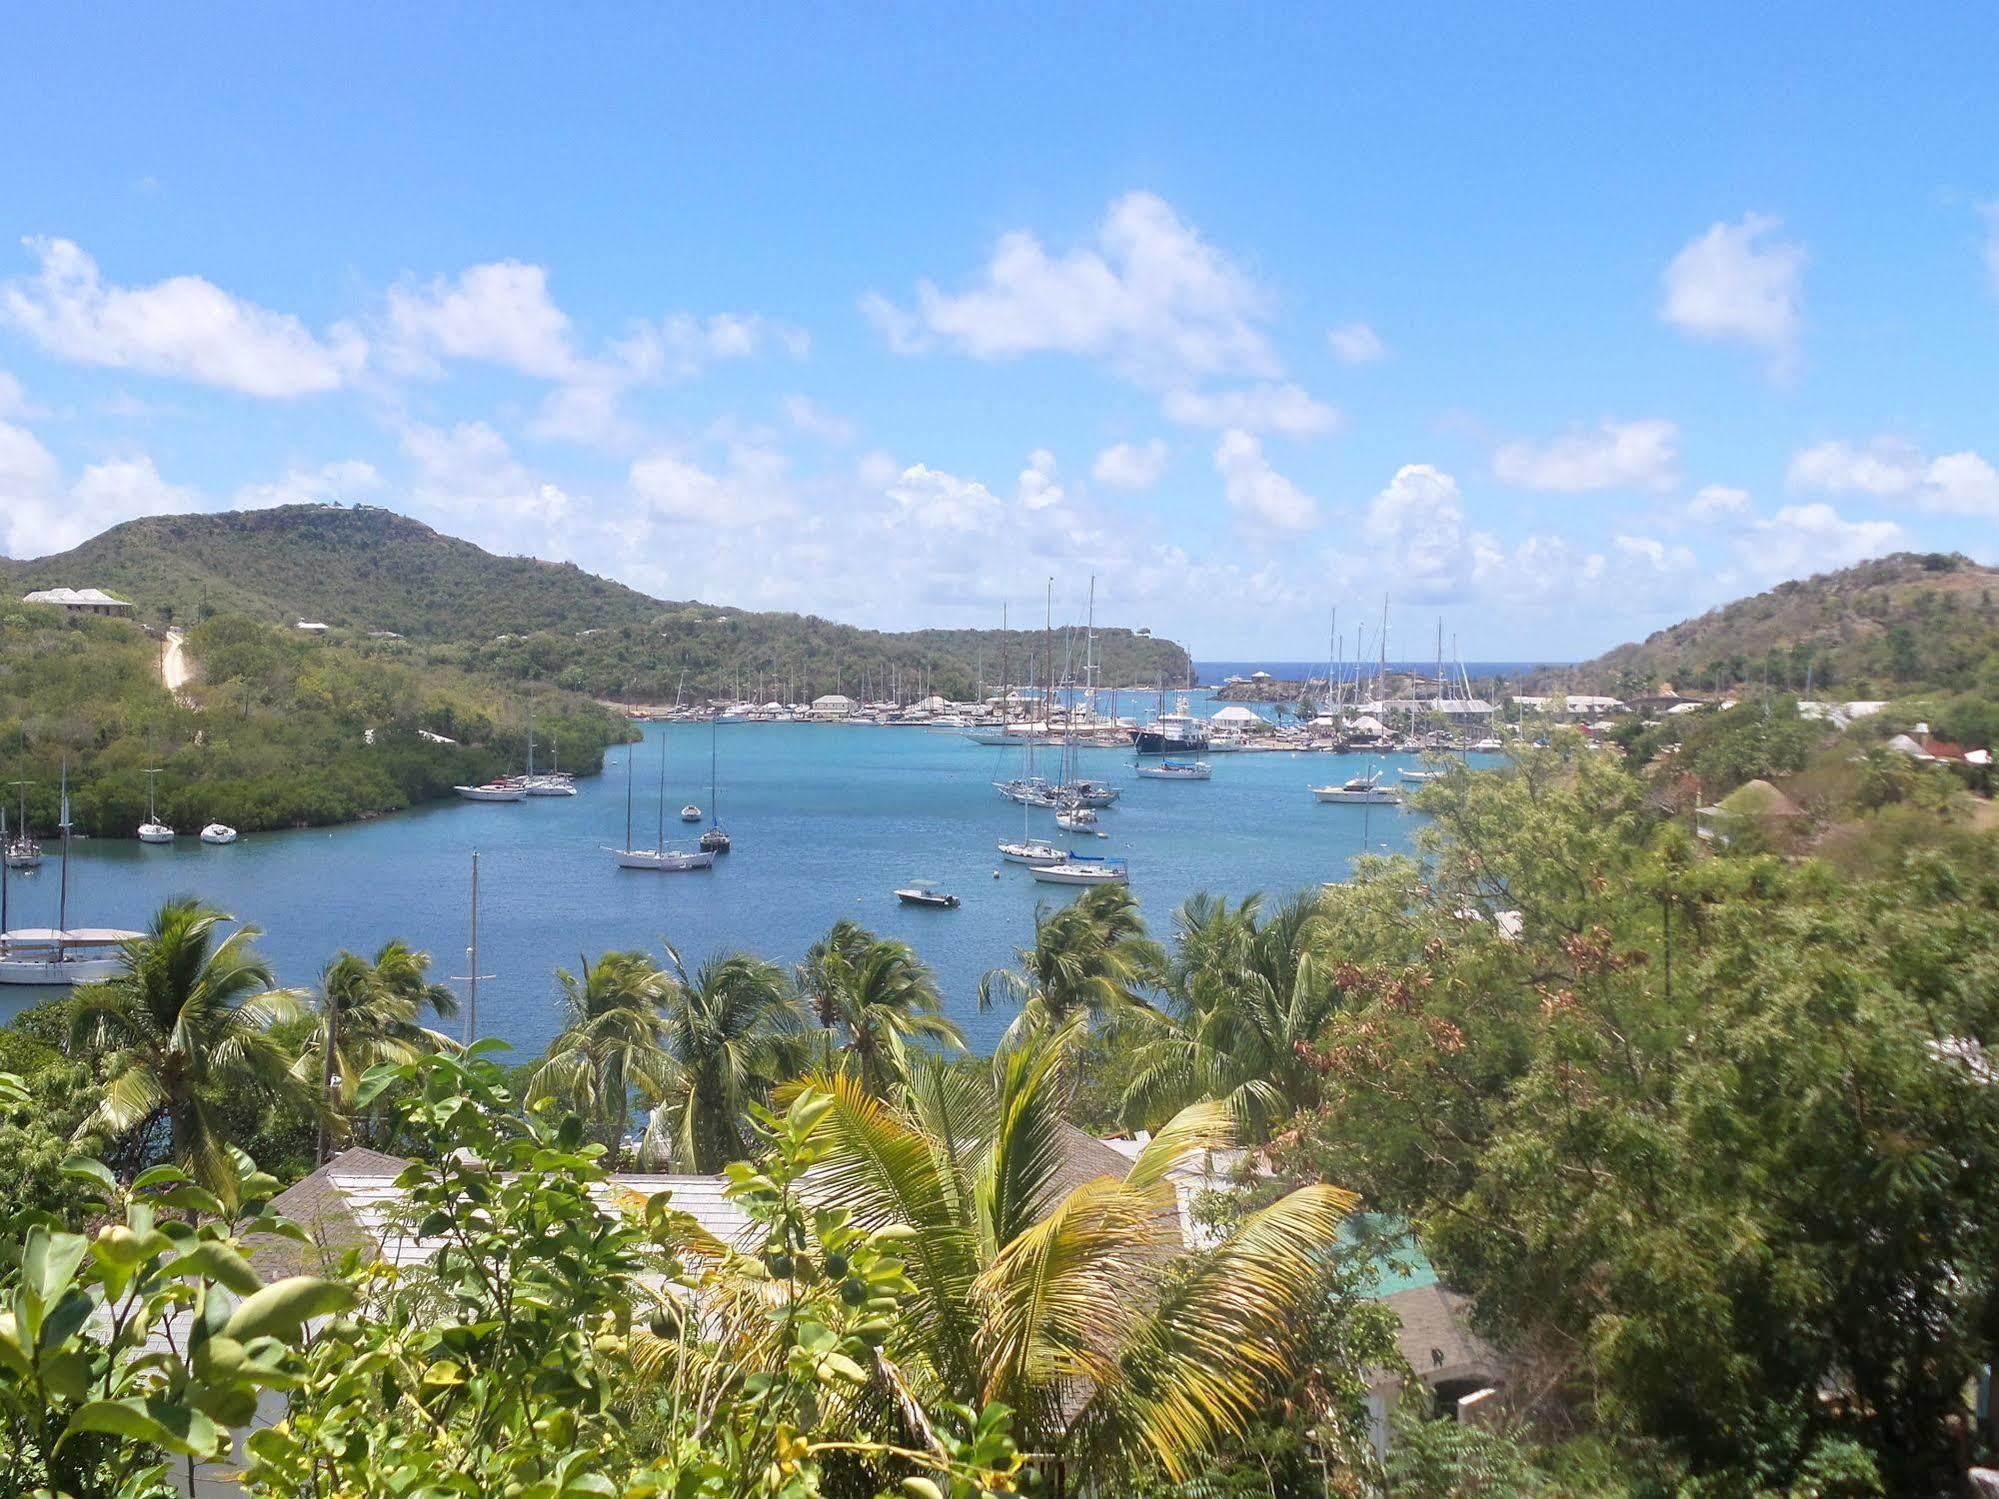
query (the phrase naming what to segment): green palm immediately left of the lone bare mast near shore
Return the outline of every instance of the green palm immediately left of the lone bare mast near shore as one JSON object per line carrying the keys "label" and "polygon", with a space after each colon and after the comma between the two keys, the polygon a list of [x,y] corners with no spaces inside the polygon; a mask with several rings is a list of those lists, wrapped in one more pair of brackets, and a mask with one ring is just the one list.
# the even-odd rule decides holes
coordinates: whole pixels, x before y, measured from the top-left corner
{"label": "green palm immediately left of the lone bare mast near shore", "polygon": [[[400,1065],[432,1051],[452,1051],[456,1041],[422,1025],[424,1009],[440,1019],[458,1013],[458,995],[430,981],[430,953],[392,937],[374,955],[342,951],[320,975],[320,1017],[306,1039],[292,1075],[320,1087],[328,1115],[352,1115],[362,1073],[378,1063]],[[332,1055],[326,1033],[332,1029]],[[338,1109],[336,1109],[338,1087]],[[320,1125],[320,1155],[332,1119]]]}

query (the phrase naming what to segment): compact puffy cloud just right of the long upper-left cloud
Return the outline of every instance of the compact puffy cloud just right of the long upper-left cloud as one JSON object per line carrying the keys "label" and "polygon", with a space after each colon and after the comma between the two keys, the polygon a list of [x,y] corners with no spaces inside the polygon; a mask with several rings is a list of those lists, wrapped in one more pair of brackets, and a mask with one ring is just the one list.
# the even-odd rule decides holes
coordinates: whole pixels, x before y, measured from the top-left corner
{"label": "compact puffy cloud just right of the long upper-left cloud", "polygon": [[478,360],[566,380],[578,364],[570,318],[548,294],[548,270],[520,260],[392,288],[386,354],[412,374],[436,374],[438,360]]}

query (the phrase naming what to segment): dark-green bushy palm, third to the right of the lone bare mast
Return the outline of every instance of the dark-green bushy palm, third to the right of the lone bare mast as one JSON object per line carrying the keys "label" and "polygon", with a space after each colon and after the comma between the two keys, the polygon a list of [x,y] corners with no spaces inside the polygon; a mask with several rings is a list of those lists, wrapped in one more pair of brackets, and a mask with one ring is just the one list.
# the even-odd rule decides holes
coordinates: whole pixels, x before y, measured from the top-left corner
{"label": "dark-green bushy palm, third to the right of the lone bare mast", "polygon": [[840,919],[812,943],[798,981],[820,1025],[844,1033],[842,1065],[870,1093],[904,1075],[910,1041],[966,1049],[964,1033],[944,1017],[936,975],[910,943],[858,921]]}

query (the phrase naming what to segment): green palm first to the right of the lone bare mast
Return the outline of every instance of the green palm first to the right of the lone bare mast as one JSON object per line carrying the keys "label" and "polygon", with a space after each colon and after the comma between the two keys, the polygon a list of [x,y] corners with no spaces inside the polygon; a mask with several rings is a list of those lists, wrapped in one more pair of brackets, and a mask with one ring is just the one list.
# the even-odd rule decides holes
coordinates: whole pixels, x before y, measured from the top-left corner
{"label": "green palm first to the right of the lone bare mast", "polygon": [[666,973],[642,951],[610,951],[594,963],[584,957],[578,969],[556,969],[564,1023],[528,1077],[528,1099],[554,1097],[576,1109],[616,1171],[634,1091],[658,1097],[674,1077],[660,1013]]}

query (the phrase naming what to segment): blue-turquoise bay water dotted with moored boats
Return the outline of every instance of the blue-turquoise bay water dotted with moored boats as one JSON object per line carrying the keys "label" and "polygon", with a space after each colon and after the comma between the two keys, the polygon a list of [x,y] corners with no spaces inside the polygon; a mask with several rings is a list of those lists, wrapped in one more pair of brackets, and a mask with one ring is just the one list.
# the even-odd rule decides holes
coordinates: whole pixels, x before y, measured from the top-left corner
{"label": "blue-turquoise bay water dotted with moored boats", "polygon": [[[1205,706],[1203,706],[1205,708]],[[1197,710],[1199,712],[1199,710]],[[634,751],[640,845],[652,845],[658,742],[668,740],[668,841],[692,847],[684,801],[704,809],[706,726],[646,726]],[[1033,931],[1037,901],[1073,899],[1003,865],[996,843],[1021,835],[1021,809],[992,781],[1021,769],[1019,750],[974,746],[914,728],[724,724],[722,819],[732,853],[706,873],[618,869],[606,845],[624,841],[622,751],[576,797],[522,803],[444,801],[352,827],[246,835],[230,847],[180,837],[168,847],[128,839],[72,845],[70,923],[142,927],[174,893],[196,893],[264,927],[264,953],[284,983],[310,985],[340,949],[408,937],[434,973],[466,973],[470,857],[480,851],[480,1033],[516,1053],[546,1045],[556,1027],[556,967],[606,947],[676,943],[690,965],[728,947],[796,963],[842,915],[904,937],[938,971],[950,1013],[976,1047],[1005,1025],[978,1013],[978,979],[1011,959]],[[1043,751],[1045,755],[1047,751]],[[1131,889],[1165,931],[1195,889],[1285,895],[1345,875],[1361,851],[1407,847],[1417,813],[1399,807],[1319,805],[1307,783],[1365,769],[1359,755],[1233,753],[1213,757],[1213,779],[1147,781],[1123,750],[1079,750],[1079,773],[1123,787],[1101,813],[1109,837],[1061,837],[1053,813],[1027,827],[1069,847],[1131,861]],[[1413,759],[1373,761],[1387,779]],[[1051,769],[1045,767],[1045,769]],[[704,819],[706,825],[706,819]],[[1000,877],[994,877],[994,871]],[[894,889],[936,879],[964,901],[956,911],[902,907]],[[56,867],[12,879],[12,923],[54,925]],[[460,987],[462,985],[454,985]],[[0,1019],[50,991],[0,989]]]}

